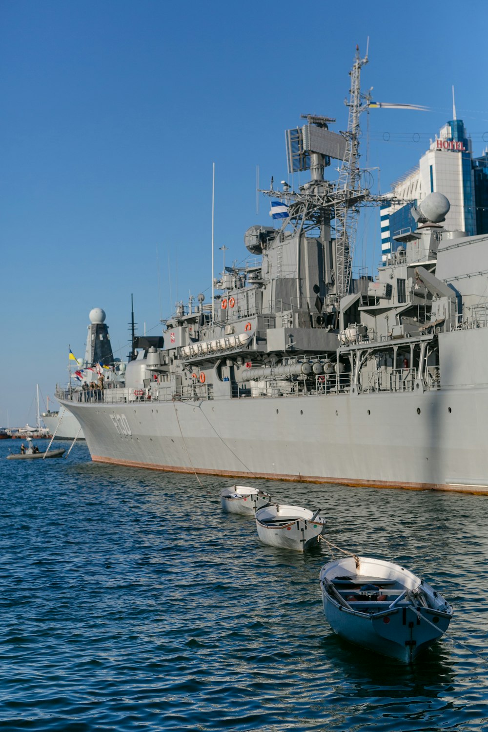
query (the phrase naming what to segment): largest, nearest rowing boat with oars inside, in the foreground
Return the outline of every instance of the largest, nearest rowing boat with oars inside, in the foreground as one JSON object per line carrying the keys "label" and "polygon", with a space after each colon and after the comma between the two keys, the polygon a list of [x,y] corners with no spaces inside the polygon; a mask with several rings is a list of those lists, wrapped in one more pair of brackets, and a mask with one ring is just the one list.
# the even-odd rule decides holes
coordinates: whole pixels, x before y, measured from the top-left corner
{"label": "largest, nearest rowing boat with oars inside, in the foreground", "polygon": [[320,571],[320,589],[337,635],[405,663],[446,632],[454,613],[427,582],[381,559],[331,561]]}

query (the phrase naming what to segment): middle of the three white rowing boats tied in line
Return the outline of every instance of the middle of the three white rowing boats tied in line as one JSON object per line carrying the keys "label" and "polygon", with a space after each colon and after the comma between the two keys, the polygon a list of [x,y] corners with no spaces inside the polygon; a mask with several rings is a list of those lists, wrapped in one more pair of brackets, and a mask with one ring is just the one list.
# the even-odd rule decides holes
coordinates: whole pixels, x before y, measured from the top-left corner
{"label": "middle of the three white rowing boats tied in line", "polygon": [[325,531],[320,509],[271,504],[256,511],[256,528],[263,544],[304,551],[319,542]]}

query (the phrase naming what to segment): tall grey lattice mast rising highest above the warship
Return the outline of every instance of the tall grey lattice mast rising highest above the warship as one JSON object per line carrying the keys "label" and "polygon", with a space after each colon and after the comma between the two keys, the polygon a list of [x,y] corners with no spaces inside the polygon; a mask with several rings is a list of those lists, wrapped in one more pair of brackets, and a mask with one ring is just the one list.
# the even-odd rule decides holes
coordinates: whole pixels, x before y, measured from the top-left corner
{"label": "tall grey lattice mast rising highest above the warship", "polygon": [[[359,116],[368,108],[371,96],[361,94],[361,69],[367,64],[368,56],[360,58],[359,46],[356,46],[356,60],[350,71],[350,98],[345,100],[349,107],[346,152],[337,180],[337,197],[335,203],[336,255],[337,255],[337,297],[340,299],[349,293],[350,278],[353,269],[354,244],[358,226],[361,184],[359,171]],[[364,100],[364,102],[363,102]]]}

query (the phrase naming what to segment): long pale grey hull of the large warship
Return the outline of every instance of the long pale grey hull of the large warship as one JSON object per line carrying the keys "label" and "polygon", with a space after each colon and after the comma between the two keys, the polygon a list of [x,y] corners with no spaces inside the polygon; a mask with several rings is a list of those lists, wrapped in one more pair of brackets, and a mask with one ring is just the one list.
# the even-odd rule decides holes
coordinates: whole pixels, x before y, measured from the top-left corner
{"label": "long pale grey hull of the large warship", "polygon": [[488,494],[487,389],[64,406],[95,462]]}

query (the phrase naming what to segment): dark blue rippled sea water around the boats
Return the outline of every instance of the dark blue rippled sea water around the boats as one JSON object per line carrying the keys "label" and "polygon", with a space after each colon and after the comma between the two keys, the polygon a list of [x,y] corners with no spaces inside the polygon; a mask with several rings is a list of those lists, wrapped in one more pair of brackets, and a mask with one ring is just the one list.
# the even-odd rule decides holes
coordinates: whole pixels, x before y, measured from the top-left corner
{"label": "dark blue rippled sea water around the boats", "polygon": [[85,444],[61,460],[9,449],[18,441],[0,443],[0,728],[488,728],[488,663],[466,648],[488,661],[488,497],[249,481],[320,507],[331,542],[398,562],[453,603],[451,639],[409,666],[334,635],[318,586],[329,553],[262,545],[252,518],[220,508],[232,481],[91,463]]}

